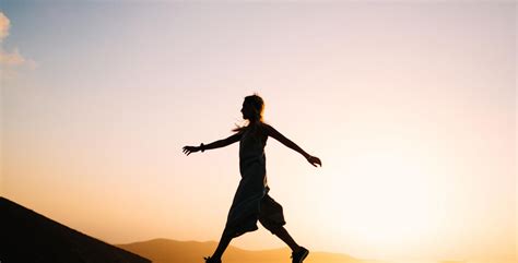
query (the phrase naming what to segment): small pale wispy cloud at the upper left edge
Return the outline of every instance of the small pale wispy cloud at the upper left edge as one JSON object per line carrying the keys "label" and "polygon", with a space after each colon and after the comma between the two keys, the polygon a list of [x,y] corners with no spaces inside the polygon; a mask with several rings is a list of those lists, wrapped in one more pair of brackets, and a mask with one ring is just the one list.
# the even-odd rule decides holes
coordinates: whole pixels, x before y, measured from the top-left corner
{"label": "small pale wispy cloud at the upper left edge", "polygon": [[0,79],[9,80],[19,75],[17,70],[23,68],[35,69],[36,62],[26,59],[17,47],[8,51],[3,48],[3,40],[9,36],[11,21],[3,12],[0,12]]}

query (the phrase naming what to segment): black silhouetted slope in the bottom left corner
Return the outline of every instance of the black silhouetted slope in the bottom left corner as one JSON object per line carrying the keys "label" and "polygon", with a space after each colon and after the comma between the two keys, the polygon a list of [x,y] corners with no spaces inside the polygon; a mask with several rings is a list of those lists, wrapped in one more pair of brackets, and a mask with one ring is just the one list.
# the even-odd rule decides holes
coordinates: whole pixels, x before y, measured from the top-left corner
{"label": "black silhouetted slope in the bottom left corner", "polygon": [[2,263],[150,263],[0,198]]}

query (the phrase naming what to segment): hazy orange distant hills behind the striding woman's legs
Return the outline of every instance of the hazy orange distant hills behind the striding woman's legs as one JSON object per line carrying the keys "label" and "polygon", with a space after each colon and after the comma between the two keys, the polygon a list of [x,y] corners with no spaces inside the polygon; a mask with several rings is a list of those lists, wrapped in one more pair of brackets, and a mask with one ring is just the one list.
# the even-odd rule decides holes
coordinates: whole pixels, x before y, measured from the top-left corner
{"label": "hazy orange distant hills behind the striding woman's legs", "polygon": [[[203,263],[203,256],[211,255],[217,243],[197,241],[175,241],[153,239],[144,242],[118,244],[119,248],[140,254],[153,263]],[[243,250],[229,246],[223,262],[225,263],[287,263],[291,262],[290,249],[262,251]],[[345,254],[310,252],[305,263],[365,263]]]}

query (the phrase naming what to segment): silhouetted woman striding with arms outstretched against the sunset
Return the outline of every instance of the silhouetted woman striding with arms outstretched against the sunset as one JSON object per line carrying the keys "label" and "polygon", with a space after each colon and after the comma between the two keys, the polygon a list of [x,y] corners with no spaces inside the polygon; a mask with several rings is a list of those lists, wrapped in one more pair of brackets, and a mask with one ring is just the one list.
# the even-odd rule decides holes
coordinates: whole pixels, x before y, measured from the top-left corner
{"label": "silhouetted woman striding with arms outstretched against the sunset", "polygon": [[200,146],[185,146],[189,155],[205,150],[219,148],[239,142],[239,171],[242,180],[228,212],[225,229],[212,256],[204,258],[205,263],[221,263],[221,256],[232,239],[245,232],[257,230],[257,220],[292,249],[293,263],[301,263],[309,251],[298,246],[284,228],[282,206],[268,195],[264,146],[269,136],[302,154],[309,164],[321,166],[318,157],[307,154],[294,142],[282,135],[273,127],[262,122],[264,103],[258,95],[245,97],[243,118],[248,121],[245,127],[234,129],[233,135]]}

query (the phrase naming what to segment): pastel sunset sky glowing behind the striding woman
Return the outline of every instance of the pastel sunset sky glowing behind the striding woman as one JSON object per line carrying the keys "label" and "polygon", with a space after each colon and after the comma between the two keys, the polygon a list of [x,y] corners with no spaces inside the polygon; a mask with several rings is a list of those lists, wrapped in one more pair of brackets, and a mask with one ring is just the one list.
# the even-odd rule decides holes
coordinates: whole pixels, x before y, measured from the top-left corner
{"label": "pastel sunset sky glowing behind the striding woman", "polygon": [[[513,1],[0,0],[0,193],[110,243],[217,240],[247,95],[313,251],[516,260]],[[233,244],[283,243],[263,228]]]}

